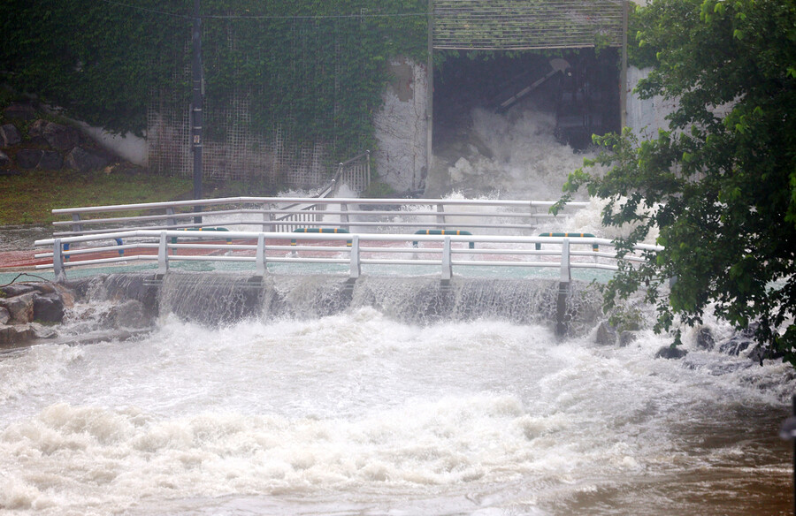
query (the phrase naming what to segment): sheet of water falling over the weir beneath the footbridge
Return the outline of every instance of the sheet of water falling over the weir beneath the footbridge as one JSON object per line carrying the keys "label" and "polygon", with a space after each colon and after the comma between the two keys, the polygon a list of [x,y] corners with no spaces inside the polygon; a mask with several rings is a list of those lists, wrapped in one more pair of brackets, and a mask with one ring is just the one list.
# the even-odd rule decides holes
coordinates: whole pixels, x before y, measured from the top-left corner
{"label": "sheet of water falling over the weir beneath the footbridge", "polygon": [[[591,330],[600,315],[595,289],[575,282],[568,298],[572,334]],[[272,317],[318,318],[373,307],[400,322],[429,324],[501,319],[555,326],[558,281],[455,277],[248,277],[169,274],[160,314],[209,325]]]}

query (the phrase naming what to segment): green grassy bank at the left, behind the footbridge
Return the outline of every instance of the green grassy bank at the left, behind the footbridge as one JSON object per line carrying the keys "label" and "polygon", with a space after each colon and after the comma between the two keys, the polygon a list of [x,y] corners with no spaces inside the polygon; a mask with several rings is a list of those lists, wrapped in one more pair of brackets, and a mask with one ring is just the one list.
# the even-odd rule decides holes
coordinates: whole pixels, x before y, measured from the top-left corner
{"label": "green grassy bank at the left, behind the footbridge", "polygon": [[190,178],[146,171],[27,171],[0,177],[0,225],[50,224],[50,210],[189,199]]}

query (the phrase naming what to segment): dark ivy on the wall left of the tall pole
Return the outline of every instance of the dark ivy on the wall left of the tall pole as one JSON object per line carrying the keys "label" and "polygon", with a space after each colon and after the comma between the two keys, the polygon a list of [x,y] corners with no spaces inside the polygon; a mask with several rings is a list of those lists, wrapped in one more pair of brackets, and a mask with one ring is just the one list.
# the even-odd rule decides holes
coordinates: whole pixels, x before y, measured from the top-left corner
{"label": "dark ivy on the wall left of the tall pole", "polygon": [[[0,82],[117,133],[142,133],[149,92],[188,61],[188,1],[4,0]],[[186,85],[171,85],[183,88]]]}

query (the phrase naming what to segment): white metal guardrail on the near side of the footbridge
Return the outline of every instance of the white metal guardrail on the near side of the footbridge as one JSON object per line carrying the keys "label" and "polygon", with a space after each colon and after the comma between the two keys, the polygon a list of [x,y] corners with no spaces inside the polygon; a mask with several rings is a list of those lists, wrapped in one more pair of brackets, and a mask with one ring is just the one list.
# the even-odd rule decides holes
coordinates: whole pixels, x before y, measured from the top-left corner
{"label": "white metal guardrail on the near side of the footbridge", "polygon": [[[127,243],[109,246],[111,239]],[[351,278],[359,277],[363,266],[423,265],[438,268],[443,280],[464,266],[543,267],[560,269],[562,282],[570,281],[572,269],[618,269],[616,253],[605,250],[613,249],[612,240],[578,237],[137,230],[37,240],[35,245],[52,249],[36,254],[52,258],[37,269],[53,269],[58,279],[67,268],[120,262],[157,262],[158,274],[178,261],[248,262],[260,276],[269,263],[337,263],[348,265]],[[661,249],[638,245],[639,254],[624,260],[643,262],[640,254]]]}

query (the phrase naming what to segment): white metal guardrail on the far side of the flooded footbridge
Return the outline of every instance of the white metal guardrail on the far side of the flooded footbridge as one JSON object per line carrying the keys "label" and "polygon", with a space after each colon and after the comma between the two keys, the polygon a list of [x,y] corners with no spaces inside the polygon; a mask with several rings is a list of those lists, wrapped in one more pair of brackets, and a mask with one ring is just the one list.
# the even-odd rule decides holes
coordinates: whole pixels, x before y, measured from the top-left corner
{"label": "white metal guardrail on the far side of the flooded footbridge", "polygon": [[[473,233],[508,231],[527,235],[539,228],[540,221],[553,218],[548,213],[553,204],[553,201],[464,199],[228,197],[54,209],[52,212],[71,217],[71,220],[53,223],[56,238],[213,225],[279,232],[328,224],[352,232],[459,229]],[[586,202],[570,202],[566,208],[586,205]],[[195,206],[202,207],[202,212],[195,212]]]}

